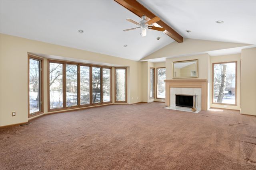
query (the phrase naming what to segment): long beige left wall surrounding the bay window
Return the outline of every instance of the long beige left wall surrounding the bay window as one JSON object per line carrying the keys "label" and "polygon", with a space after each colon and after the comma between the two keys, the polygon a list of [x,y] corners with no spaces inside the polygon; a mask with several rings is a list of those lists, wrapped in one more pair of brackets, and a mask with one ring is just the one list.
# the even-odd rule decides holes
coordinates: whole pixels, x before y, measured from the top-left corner
{"label": "long beige left wall surrounding the bay window", "polygon": [[[0,126],[28,121],[28,52],[128,66],[128,103],[142,101],[141,62],[0,34]],[[44,60],[45,113],[46,63]],[[16,116],[12,117],[12,111],[16,111]]]}

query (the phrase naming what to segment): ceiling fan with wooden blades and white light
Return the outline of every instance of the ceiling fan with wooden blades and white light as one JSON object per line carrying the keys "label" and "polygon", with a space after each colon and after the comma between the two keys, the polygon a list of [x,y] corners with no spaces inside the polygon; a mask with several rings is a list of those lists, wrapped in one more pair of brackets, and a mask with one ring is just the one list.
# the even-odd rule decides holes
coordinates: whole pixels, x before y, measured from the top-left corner
{"label": "ceiling fan with wooden blades and white light", "polygon": [[131,20],[131,19],[126,19],[127,21],[129,22],[132,22],[132,23],[135,23],[136,25],[138,25],[139,27],[136,27],[136,28],[130,28],[130,29],[124,29],[123,31],[130,31],[130,30],[133,30],[133,29],[139,29],[140,28],[140,35],[142,37],[146,36],[147,35],[147,28],[148,29],[154,29],[156,31],[164,31],[165,29],[164,28],[161,28],[161,27],[154,27],[154,26],[150,26],[152,23],[155,23],[157,21],[160,21],[160,18],[159,17],[154,17],[152,18],[151,20],[149,21],[146,21],[146,16],[142,16],[141,17],[142,20],[138,23],[134,20]]}

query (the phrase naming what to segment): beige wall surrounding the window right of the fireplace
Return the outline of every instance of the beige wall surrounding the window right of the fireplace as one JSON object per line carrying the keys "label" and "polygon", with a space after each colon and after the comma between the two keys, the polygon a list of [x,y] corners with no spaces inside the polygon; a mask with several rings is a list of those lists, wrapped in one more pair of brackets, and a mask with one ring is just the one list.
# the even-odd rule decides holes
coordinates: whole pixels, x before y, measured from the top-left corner
{"label": "beige wall surrounding the window right of the fireplace", "polygon": [[237,78],[236,78],[236,106],[230,106],[225,104],[212,104],[212,84],[210,84],[210,106],[216,108],[224,108],[224,109],[236,109],[240,110],[240,60],[241,54],[232,54],[232,55],[220,55],[220,56],[212,56],[210,57],[211,65],[210,65],[210,77],[212,81],[212,63],[222,63],[222,62],[237,62]]}

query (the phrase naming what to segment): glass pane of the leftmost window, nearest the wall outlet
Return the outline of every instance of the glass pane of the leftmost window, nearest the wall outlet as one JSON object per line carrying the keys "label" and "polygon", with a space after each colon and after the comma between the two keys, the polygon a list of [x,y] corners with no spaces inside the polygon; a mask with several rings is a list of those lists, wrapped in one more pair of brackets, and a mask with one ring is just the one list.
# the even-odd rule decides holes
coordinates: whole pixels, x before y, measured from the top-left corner
{"label": "glass pane of the leftmost window, nearest the wall outlet", "polygon": [[41,62],[29,59],[29,113],[41,110],[40,66]]}

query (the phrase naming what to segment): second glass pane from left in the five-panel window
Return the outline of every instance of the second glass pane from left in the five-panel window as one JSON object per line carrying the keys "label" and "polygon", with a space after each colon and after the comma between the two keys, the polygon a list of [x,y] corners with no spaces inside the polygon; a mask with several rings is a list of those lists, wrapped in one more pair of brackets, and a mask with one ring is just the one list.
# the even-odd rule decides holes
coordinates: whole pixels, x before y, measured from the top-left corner
{"label": "second glass pane from left in the five-panel window", "polygon": [[77,105],[77,65],[66,64],[66,106]]}

